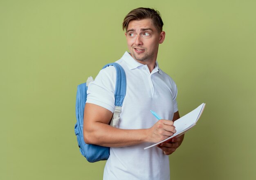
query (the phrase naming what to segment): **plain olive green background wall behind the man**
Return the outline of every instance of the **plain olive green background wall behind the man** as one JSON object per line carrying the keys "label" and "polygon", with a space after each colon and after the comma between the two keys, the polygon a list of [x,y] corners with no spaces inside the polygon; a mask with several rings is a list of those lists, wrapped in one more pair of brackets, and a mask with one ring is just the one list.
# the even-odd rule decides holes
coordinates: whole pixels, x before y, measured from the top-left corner
{"label": "plain olive green background wall behind the man", "polygon": [[76,86],[127,50],[121,23],[137,7],[162,14],[158,61],[180,115],[206,103],[171,179],[256,179],[254,0],[0,0],[1,180],[102,179],[105,162],[77,147]]}

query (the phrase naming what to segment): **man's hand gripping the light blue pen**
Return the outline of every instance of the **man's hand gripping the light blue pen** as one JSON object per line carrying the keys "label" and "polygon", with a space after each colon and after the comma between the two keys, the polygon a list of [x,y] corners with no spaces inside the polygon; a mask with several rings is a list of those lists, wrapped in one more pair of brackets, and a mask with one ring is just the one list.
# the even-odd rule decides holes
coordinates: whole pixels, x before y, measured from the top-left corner
{"label": "man's hand gripping the light blue pen", "polygon": [[176,133],[173,121],[161,119],[148,129],[148,142],[160,142]]}

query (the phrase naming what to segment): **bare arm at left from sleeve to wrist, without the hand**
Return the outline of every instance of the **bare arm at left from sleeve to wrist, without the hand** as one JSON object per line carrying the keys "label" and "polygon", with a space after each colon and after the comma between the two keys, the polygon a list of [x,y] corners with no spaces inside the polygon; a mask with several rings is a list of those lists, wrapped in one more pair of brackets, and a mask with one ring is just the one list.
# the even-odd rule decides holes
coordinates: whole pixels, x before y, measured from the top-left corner
{"label": "bare arm at left from sleeve to wrist, without the hand", "polygon": [[87,144],[106,147],[123,147],[142,143],[147,130],[127,130],[111,127],[112,112],[95,104],[86,103],[84,113],[84,140]]}

